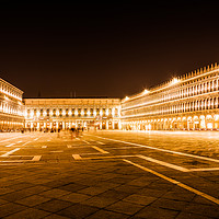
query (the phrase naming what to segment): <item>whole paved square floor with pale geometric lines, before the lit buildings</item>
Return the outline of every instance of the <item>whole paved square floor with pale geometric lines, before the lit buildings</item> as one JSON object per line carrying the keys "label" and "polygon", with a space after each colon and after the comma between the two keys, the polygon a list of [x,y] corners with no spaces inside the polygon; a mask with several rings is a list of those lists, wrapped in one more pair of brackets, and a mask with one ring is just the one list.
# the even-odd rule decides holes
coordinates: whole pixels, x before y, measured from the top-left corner
{"label": "whole paved square floor with pale geometric lines, before the lit buildings", "polygon": [[218,132],[0,135],[0,218],[219,218]]}

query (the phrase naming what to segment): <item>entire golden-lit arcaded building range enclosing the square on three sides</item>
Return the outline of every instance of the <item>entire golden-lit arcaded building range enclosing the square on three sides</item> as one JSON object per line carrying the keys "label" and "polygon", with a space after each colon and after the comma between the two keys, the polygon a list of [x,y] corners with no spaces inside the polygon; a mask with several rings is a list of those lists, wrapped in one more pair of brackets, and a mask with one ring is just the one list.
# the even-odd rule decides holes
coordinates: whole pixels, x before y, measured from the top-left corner
{"label": "entire golden-lit arcaded building range enclosing the square on three sides", "polygon": [[24,99],[0,79],[0,131],[84,127],[124,130],[219,130],[219,66],[195,70],[120,99]]}

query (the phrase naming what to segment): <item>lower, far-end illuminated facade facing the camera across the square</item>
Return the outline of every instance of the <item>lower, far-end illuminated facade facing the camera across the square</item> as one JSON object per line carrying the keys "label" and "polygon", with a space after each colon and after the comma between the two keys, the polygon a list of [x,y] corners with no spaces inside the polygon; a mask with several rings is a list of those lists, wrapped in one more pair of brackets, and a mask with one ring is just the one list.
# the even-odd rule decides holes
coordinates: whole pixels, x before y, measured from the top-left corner
{"label": "lower, far-end illuminated facade facing the camera across the square", "polygon": [[25,128],[119,129],[119,99],[24,99]]}

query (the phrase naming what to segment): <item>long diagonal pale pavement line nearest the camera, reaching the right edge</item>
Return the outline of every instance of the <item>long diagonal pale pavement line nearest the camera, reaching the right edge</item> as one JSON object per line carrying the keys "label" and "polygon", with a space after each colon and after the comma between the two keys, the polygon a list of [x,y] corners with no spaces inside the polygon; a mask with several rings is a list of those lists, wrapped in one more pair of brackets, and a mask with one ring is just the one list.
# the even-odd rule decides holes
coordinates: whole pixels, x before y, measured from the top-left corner
{"label": "long diagonal pale pavement line nearest the camera, reaching the right edge", "polygon": [[184,189],[186,189],[186,191],[189,191],[189,192],[192,192],[192,193],[195,193],[196,195],[199,195],[199,196],[201,196],[201,197],[204,197],[204,198],[206,198],[206,199],[208,199],[208,200],[210,200],[210,201],[212,201],[212,203],[219,205],[219,199],[218,199],[218,198],[215,198],[215,197],[212,197],[212,196],[210,196],[210,195],[208,195],[208,194],[206,194],[206,193],[203,193],[203,192],[200,192],[200,191],[197,191],[196,188],[193,188],[193,187],[191,187],[191,186],[188,186],[188,185],[186,185],[186,184],[184,184],[184,183],[181,183],[181,182],[178,182],[178,181],[175,181],[175,180],[173,180],[173,178],[171,178],[171,177],[169,177],[169,176],[165,176],[165,175],[163,175],[163,174],[161,174],[161,173],[158,173],[158,172],[155,172],[155,171],[153,171],[153,170],[150,170],[150,169],[145,168],[145,166],[142,166],[142,165],[139,165],[139,164],[137,164],[137,163],[134,163],[134,162],[131,162],[131,161],[129,161],[129,160],[123,159],[123,161],[125,161],[126,163],[129,163],[129,164],[131,164],[131,165],[135,165],[135,166],[137,166],[137,168],[139,168],[139,169],[141,169],[141,170],[143,170],[143,171],[147,171],[147,172],[149,172],[149,173],[152,173],[153,175],[157,175],[157,176],[159,176],[159,177],[161,177],[161,178],[163,178],[163,180],[165,180],[165,181],[169,181],[170,183],[176,184],[177,186],[180,186],[180,187],[182,187],[182,188],[184,188]]}

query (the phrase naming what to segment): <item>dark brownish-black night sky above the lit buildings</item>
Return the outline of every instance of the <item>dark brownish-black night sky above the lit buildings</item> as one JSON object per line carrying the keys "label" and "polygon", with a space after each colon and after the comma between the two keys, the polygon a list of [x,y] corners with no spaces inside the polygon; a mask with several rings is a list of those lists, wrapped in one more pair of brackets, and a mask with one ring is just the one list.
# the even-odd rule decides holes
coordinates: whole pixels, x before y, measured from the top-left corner
{"label": "dark brownish-black night sky above the lit buildings", "polygon": [[61,2],[0,3],[0,78],[24,97],[124,97],[219,61],[217,1]]}

